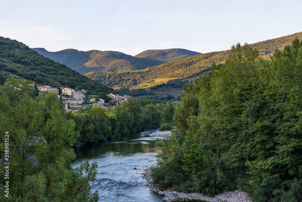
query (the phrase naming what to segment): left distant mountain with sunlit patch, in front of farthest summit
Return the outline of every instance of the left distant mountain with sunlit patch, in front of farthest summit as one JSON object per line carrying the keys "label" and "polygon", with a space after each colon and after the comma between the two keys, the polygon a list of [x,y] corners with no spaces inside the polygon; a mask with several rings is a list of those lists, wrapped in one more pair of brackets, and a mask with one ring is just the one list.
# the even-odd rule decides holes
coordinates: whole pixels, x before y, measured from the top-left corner
{"label": "left distant mountain with sunlit patch, in front of farthest summit", "polygon": [[149,58],[135,58],[117,51],[78,51],[66,49],[57,52],[49,52],[44,48],[33,48],[41,55],[56,62],[67,65],[80,74],[88,72],[126,72],[146,69],[165,63]]}

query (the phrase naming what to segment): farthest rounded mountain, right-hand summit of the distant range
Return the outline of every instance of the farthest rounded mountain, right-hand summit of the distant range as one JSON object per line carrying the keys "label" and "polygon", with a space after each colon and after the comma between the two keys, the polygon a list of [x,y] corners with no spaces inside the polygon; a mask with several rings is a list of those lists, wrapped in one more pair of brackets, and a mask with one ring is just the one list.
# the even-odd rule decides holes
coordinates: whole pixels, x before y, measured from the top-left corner
{"label": "farthest rounded mountain, right-hand summit of the distant range", "polygon": [[138,55],[135,55],[136,58],[149,58],[155,59],[165,62],[174,62],[177,60],[181,60],[184,58],[188,58],[194,55],[200,55],[202,53],[198,53],[195,51],[189,51],[181,48],[172,48],[165,50],[147,50],[143,51]]}

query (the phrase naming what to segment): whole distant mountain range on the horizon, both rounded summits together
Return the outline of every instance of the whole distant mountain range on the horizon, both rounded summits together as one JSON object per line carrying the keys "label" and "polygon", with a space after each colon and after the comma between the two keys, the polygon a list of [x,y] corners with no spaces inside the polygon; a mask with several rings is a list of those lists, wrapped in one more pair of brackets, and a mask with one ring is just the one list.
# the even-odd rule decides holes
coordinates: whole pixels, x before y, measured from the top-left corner
{"label": "whole distant mountain range on the horizon, both rounded summits together", "polygon": [[185,49],[149,50],[133,57],[117,51],[78,51],[66,49],[49,52],[45,48],[32,48],[39,54],[67,65],[80,74],[88,72],[127,72],[142,70],[201,53]]}

